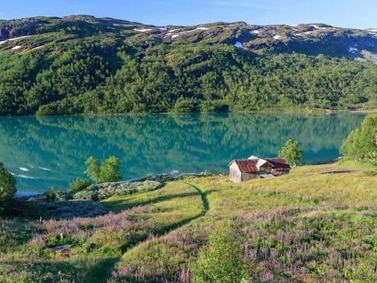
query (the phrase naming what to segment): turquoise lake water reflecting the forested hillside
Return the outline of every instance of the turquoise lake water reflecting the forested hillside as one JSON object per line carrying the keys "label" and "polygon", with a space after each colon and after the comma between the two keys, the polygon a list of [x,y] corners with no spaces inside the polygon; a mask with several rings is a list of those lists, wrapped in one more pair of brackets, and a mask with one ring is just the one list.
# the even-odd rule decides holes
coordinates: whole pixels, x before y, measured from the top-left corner
{"label": "turquoise lake water reflecting the forested hillside", "polygon": [[300,141],[304,163],[331,161],[362,114],[190,114],[0,117],[0,161],[20,192],[64,188],[88,156],[116,155],[124,180],[157,173],[227,173],[234,158],[273,157]]}

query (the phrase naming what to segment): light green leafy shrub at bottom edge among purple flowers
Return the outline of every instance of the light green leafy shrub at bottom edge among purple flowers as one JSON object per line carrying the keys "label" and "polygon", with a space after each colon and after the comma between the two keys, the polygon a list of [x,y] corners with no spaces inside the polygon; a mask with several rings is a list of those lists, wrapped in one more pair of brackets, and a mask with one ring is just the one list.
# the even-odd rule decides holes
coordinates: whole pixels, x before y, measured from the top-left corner
{"label": "light green leafy shrub at bottom edge among purple flowers", "polygon": [[209,249],[201,250],[193,267],[193,283],[240,283],[244,279],[242,247],[235,229],[220,224],[210,236]]}

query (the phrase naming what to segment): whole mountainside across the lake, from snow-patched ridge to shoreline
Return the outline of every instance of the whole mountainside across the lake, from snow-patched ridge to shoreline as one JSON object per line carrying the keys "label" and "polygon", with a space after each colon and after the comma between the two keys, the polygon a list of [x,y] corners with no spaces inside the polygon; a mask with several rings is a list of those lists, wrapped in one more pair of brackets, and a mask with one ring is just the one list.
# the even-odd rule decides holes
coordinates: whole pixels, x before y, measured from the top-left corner
{"label": "whole mountainside across the lake, from snow-patched ridge to shoreline", "polygon": [[0,115],[376,107],[376,30],[69,16],[0,40]]}

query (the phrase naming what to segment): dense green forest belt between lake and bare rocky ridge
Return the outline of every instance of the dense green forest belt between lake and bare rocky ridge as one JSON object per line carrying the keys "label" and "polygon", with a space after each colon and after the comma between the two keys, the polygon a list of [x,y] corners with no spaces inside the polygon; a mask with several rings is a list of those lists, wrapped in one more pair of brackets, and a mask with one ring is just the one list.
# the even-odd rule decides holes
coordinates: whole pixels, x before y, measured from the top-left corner
{"label": "dense green forest belt between lake and bare rocky ridge", "polygon": [[376,76],[373,64],[324,56],[71,42],[0,52],[0,115],[354,108],[376,103]]}

